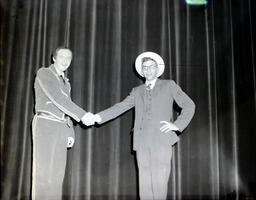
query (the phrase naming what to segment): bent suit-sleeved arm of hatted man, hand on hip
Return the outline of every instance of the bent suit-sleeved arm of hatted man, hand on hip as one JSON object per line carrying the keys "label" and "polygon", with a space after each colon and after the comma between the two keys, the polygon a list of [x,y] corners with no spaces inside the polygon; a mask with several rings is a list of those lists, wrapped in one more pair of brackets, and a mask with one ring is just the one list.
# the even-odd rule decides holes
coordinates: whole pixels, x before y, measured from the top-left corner
{"label": "bent suit-sleeved arm of hatted man, hand on hip", "polygon": [[171,90],[175,102],[182,109],[180,115],[174,122],[174,125],[176,125],[179,131],[182,132],[188,126],[189,122],[194,116],[195,104],[174,81],[171,81]]}

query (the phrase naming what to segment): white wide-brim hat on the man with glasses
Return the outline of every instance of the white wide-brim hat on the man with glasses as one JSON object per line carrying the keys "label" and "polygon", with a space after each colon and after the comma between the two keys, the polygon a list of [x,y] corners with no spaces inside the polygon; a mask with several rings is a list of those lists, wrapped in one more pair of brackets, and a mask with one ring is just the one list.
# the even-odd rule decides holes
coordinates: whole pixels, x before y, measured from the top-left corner
{"label": "white wide-brim hat on the man with glasses", "polygon": [[142,59],[145,57],[152,58],[154,61],[156,61],[157,68],[158,68],[157,77],[161,76],[164,73],[164,61],[163,61],[162,57],[159,56],[157,53],[150,52],[150,51],[143,52],[136,58],[135,68],[136,68],[136,71],[138,72],[138,74],[141,75],[142,77],[144,77],[142,74],[142,66],[141,65],[142,65]]}

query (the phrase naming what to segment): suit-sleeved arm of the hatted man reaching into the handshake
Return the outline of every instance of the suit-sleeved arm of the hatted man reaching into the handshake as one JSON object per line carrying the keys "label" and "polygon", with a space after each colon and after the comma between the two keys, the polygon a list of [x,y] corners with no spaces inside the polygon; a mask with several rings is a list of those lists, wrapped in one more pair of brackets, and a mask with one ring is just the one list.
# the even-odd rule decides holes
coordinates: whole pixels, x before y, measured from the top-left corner
{"label": "suit-sleeved arm of the hatted man reaching into the handshake", "polygon": [[101,118],[101,121],[99,122],[99,124],[102,124],[106,121],[116,118],[117,116],[121,115],[125,111],[133,108],[134,105],[135,105],[135,97],[134,97],[134,89],[133,89],[131,93],[123,101],[98,113],[98,115]]}

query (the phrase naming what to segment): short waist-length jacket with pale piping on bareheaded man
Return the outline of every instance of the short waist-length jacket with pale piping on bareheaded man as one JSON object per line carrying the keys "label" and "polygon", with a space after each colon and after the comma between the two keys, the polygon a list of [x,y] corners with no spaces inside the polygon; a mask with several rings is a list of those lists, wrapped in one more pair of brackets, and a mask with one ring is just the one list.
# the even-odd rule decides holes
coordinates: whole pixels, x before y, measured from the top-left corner
{"label": "short waist-length jacket with pale piping on bareheaded man", "polygon": [[70,83],[57,74],[54,65],[38,70],[34,88],[36,113],[48,113],[59,120],[69,116],[78,122],[86,113],[71,100]]}

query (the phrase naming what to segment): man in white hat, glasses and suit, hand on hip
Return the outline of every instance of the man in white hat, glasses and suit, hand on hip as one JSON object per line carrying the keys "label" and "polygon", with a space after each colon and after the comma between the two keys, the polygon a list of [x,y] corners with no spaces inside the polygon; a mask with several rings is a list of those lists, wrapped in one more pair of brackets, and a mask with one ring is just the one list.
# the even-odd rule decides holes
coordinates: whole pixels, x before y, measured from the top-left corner
{"label": "man in white hat, glasses and suit, hand on hip", "polygon": [[[179,141],[175,131],[187,127],[195,104],[173,80],[158,78],[164,72],[164,61],[158,54],[140,54],[135,67],[145,84],[133,88],[122,102],[96,114],[95,121],[102,124],[135,107],[133,149],[139,168],[140,199],[166,199],[172,145]],[[176,120],[174,101],[182,109]]]}

